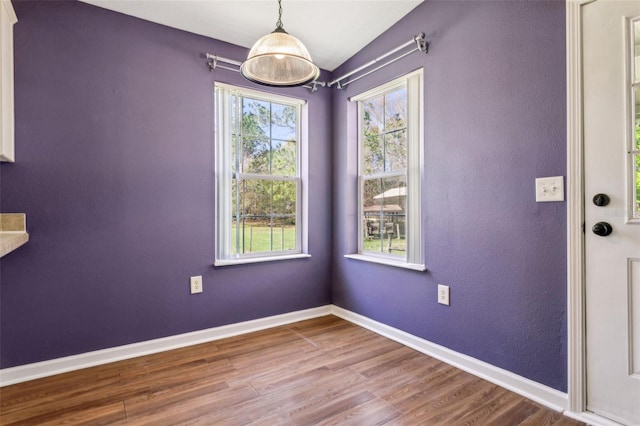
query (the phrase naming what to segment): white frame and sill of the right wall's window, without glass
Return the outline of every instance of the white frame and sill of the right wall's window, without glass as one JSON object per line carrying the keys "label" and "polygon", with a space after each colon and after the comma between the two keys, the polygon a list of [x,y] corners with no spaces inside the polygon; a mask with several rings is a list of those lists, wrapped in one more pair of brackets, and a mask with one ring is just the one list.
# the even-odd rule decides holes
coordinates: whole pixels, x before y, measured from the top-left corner
{"label": "white frame and sill of the right wall's window, without glass", "polygon": [[[426,270],[424,261],[424,236],[422,234],[422,182],[424,180],[424,102],[422,69],[406,74],[386,84],[353,96],[358,103],[358,253],[347,254],[350,259],[364,260],[417,271]],[[363,251],[363,129],[362,102],[382,96],[399,87],[407,88],[407,198],[406,198],[406,246],[405,258],[384,253]],[[396,175],[397,173],[392,173]],[[383,174],[380,176],[384,177]],[[380,177],[379,176],[379,177]]]}

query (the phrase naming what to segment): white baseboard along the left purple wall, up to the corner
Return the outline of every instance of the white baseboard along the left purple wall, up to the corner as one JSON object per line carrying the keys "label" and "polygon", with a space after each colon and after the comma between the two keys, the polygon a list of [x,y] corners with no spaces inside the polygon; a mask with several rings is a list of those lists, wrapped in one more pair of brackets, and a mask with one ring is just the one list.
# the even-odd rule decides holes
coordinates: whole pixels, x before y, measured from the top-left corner
{"label": "white baseboard along the left purple wall, up to the corner", "polygon": [[64,358],[56,358],[49,361],[20,365],[18,367],[5,368],[0,370],[0,386],[8,386],[15,383],[53,376],[55,374],[66,373],[68,371],[122,361],[123,359],[211,342],[329,314],[331,314],[331,305],[87,352]]}

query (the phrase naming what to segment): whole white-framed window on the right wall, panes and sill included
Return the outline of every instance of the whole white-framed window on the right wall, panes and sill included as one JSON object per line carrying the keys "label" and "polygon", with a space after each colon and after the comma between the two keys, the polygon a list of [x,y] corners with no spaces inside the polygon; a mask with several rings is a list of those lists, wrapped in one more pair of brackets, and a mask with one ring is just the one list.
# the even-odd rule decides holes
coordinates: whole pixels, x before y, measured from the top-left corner
{"label": "whole white-framed window on the right wall, panes and sill included", "polygon": [[422,70],[358,103],[358,255],[424,270],[421,232]]}

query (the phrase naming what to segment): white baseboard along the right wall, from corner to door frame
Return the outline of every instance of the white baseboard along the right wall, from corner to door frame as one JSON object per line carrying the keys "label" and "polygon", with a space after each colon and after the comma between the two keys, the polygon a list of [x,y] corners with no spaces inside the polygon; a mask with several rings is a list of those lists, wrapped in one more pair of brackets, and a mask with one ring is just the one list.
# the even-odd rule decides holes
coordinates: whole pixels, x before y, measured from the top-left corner
{"label": "white baseboard along the right wall, from corner to door frame", "polygon": [[539,404],[549,407],[552,410],[564,412],[567,409],[568,397],[564,392],[560,392],[549,386],[534,382],[533,380],[488,364],[484,361],[452,351],[444,346],[429,342],[428,340],[340,308],[339,306],[333,305],[331,307],[331,313],[337,317],[371,330],[374,333],[388,337],[398,343],[402,343],[405,346],[471,373],[474,376],[481,377],[491,383],[495,383],[498,386],[509,389],[510,391],[520,394],[525,398],[529,398]]}

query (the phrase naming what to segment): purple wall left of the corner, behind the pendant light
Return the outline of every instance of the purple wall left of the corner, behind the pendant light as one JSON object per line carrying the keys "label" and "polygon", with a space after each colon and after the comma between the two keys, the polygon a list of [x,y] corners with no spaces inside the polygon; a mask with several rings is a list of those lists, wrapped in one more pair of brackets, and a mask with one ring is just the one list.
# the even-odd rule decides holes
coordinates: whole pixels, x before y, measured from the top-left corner
{"label": "purple wall left of the corner, behind the pendant light", "polygon": [[[213,84],[245,49],[74,1],[14,2],[16,158],[2,211],[1,366],[330,303],[330,92],[309,100],[310,251],[213,268]],[[204,293],[189,294],[203,275]]]}

